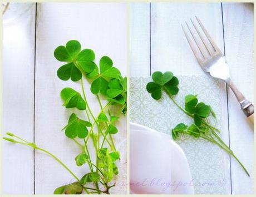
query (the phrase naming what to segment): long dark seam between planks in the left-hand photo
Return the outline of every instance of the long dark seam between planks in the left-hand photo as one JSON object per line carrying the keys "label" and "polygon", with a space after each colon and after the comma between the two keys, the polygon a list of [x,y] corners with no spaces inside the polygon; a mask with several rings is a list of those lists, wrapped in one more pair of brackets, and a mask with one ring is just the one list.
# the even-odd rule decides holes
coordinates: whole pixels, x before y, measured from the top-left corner
{"label": "long dark seam between planks in the left-hand photo", "polygon": [[[36,112],[36,27],[37,27],[37,3],[36,3],[36,12],[35,12],[35,49],[34,49],[34,111],[33,111],[33,143],[35,143],[35,120],[36,120],[36,116],[35,116],[35,112]],[[34,194],[36,194],[36,179],[35,179],[35,149],[33,149],[33,190],[34,190]]]}

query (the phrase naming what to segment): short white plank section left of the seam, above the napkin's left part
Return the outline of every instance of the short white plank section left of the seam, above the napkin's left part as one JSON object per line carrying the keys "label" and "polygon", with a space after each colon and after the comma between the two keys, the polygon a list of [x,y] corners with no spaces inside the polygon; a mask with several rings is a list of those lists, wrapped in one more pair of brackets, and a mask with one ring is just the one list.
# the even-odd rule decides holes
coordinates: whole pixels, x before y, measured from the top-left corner
{"label": "short white plank section left of the seam, above the napkin's left part", "polygon": [[150,3],[130,3],[130,75],[150,74]]}

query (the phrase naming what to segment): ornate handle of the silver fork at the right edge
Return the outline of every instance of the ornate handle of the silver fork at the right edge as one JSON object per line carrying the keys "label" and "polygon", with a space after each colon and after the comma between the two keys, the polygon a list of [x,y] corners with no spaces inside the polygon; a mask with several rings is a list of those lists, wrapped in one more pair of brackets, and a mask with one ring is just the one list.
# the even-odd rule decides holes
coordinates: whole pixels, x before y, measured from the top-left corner
{"label": "ornate handle of the silver fork at the right edge", "polygon": [[254,124],[254,107],[249,100],[247,100],[242,93],[235,87],[232,80],[229,78],[225,80],[225,82],[228,84],[228,86],[232,89],[233,93],[235,94],[235,97],[237,98],[238,102],[240,103],[240,107],[243,110],[244,114],[248,117],[249,122]]}

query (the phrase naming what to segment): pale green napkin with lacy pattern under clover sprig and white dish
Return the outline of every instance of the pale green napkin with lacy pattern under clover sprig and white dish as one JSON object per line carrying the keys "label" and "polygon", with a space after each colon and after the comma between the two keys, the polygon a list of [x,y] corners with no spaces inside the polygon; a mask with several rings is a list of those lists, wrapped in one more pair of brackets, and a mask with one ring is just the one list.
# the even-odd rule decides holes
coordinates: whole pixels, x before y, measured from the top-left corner
{"label": "pale green napkin with lacy pattern under clover sprig and white dish", "polygon": [[[198,99],[210,104],[216,115],[216,127],[221,129],[221,97],[219,80],[207,76],[178,76],[179,93],[175,100],[184,106],[187,94],[198,94]],[[130,78],[130,121],[171,135],[171,128],[178,123],[190,124],[187,117],[164,93],[156,101],[146,91],[151,77]],[[229,155],[204,139],[183,136],[176,140],[184,150],[193,180],[196,194],[229,194]]]}

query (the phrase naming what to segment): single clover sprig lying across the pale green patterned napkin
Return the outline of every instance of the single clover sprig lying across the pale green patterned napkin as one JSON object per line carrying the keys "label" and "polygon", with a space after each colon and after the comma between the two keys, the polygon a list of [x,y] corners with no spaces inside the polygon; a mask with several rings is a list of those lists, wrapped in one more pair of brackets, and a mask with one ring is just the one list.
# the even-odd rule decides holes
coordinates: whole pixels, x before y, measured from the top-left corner
{"label": "single clover sprig lying across the pale green patterned napkin", "polygon": [[169,95],[170,100],[194,121],[191,125],[179,123],[175,128],[171,129],[171,135],[174,140],[178,139],[180,134],[191,135],[194,138],[203,138],[208,140],[232,155],[249,176],[244,165],[240,162],[237,156],[234,155],[228,145],[219,137],[218,133],[220,130],[209,123],[210,117],[213,117],[216,120],[216,114],[210,105],[207,105],[204,102],[199,102],[197,95],[188,94],[184,99],[184,108],[181,107],[174,98],[174,95],[179,92],[179,80],[171,72],[165,72],[164,74],[159,71],[154,72],[152,74],[152,80],[153,82],[149,82],[146,85],[146,90],[151,94],[152,98],[155,100],[161,99],[163,95],[162,92],[164,91]]}

